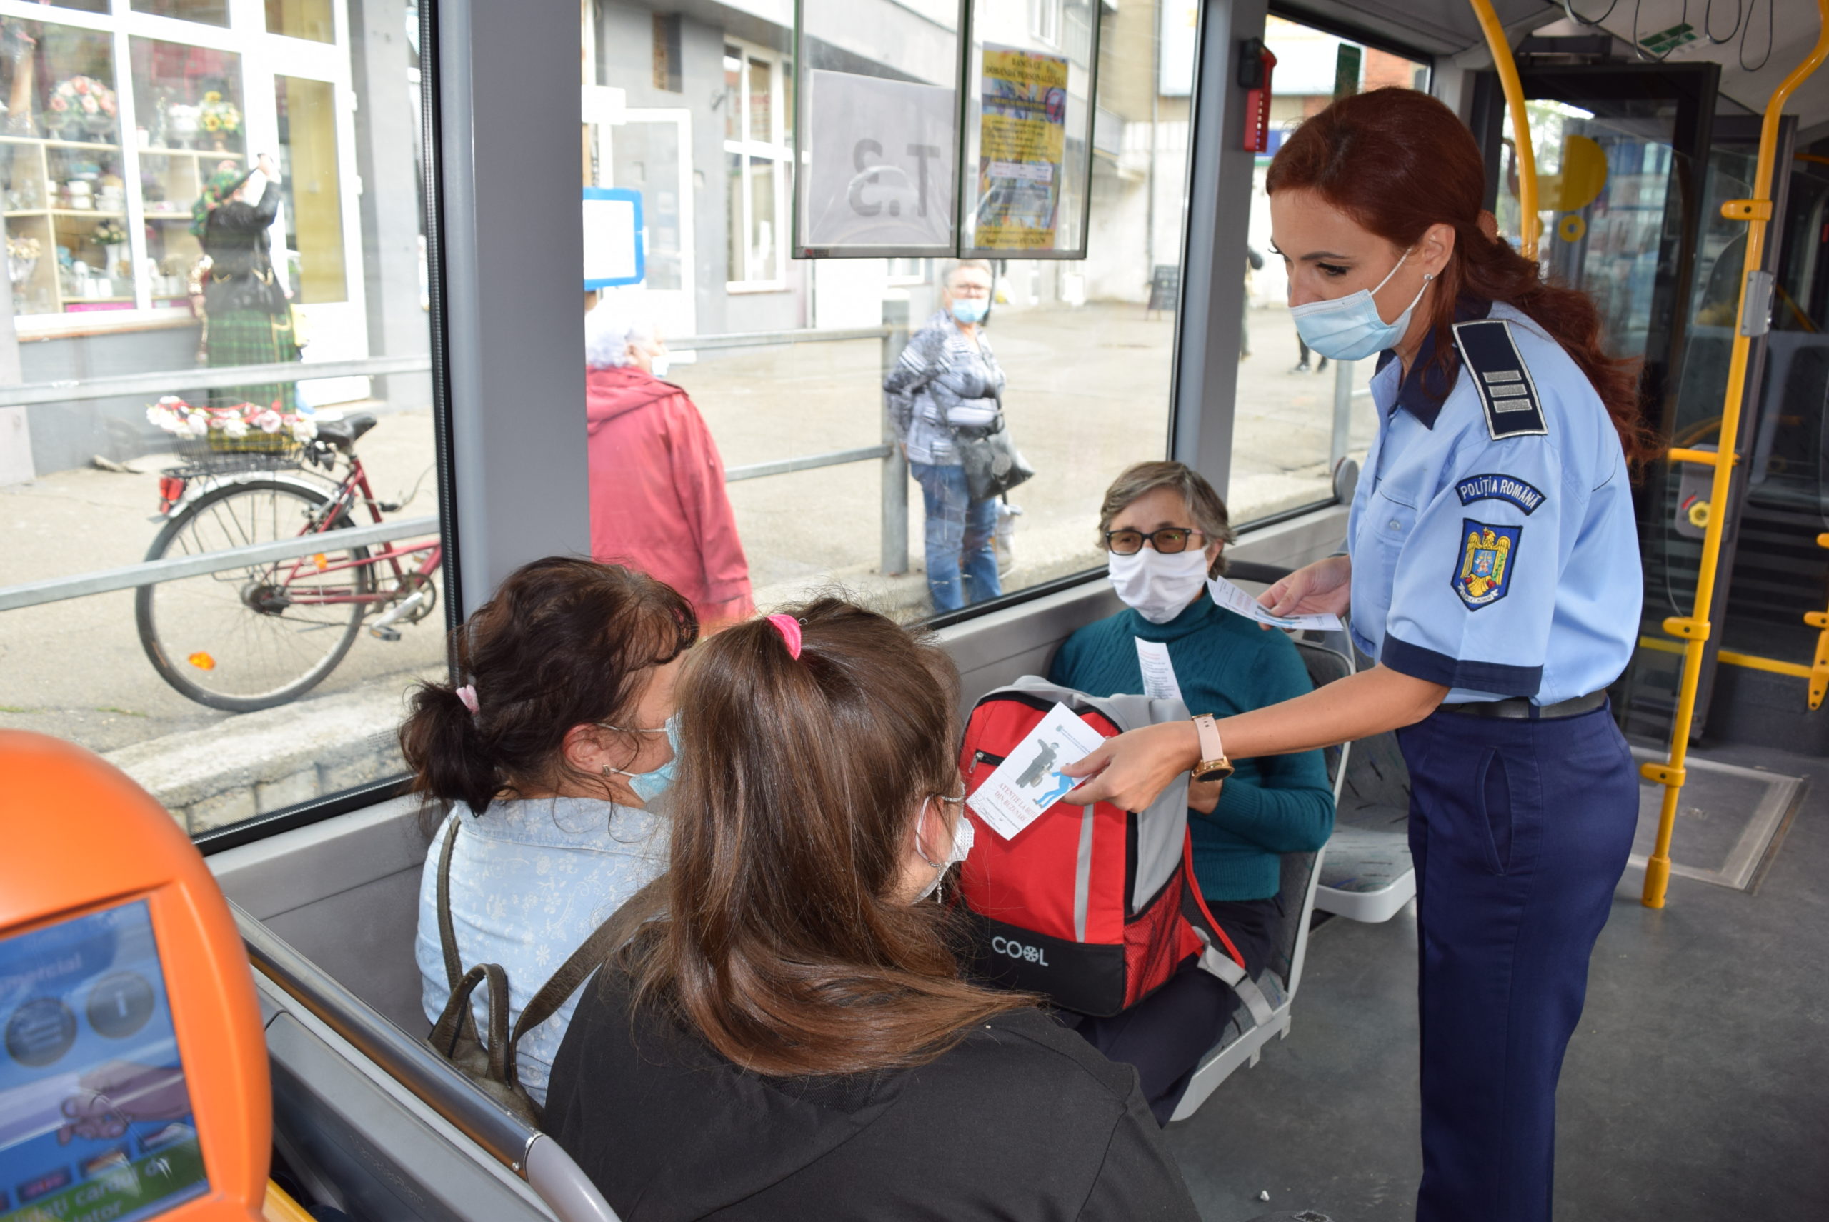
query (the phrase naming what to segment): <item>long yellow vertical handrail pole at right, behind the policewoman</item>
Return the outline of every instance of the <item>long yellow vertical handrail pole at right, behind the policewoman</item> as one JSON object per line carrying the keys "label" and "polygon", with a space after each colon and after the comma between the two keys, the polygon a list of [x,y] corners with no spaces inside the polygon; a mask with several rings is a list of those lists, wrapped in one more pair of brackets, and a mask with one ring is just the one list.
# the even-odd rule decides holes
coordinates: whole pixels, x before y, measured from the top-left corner
{"label": "long yellow vertical handrail pole at right, behind the policewoman", "polygon": [[[1478,11],[1485,0],[1472,0]],[[1752,198],[1728,199],[1721,205],[1721,216],[1734,221],[1747,221],[1747,251],[1741,262],[1738,326],[1734,327],[1734,351],[1727,366],[1727,401],[1721,408],[1721,439],[1716,452],[1672,454],[1674,461],[1703,463],[1714,466],[1708,501],[1712,505],[1728,503],[1728,481],[1734,477],[1734,445],[1739,437],[1739,408],[1747,386],[1747,287],[1752,273],[1765,262],[1765,225],[1772,220],[1772,163],[1778,157],[1778,121],[1785,102],[1813,71],[1829,59],[1829,0],[1816,0],[1818,29],[1816,46],[1803,57],[1803,62],[1791,70],[1778,88],[1772,90],[1765,104],[1765,119],[1759,124],[1759,157],[1752,172]],[[1485,18],[1481,18],[1483,22]],[[1491,35],[1489,35],[1491,40]],[[1670,759],[1648,763],[1639,772],[1653,783],[1664,787],[1664,807],[1657,820],[1657,845],[1644,865],[1644,893],[1641,902],[1646,907],[1664,906],[1664,889],[1670,885],[1670,832],[1677,821],[1677,794],[1683,792],[1685,761],[1690,750],[1690,723],[1695,715],[1695,688],[1703,675],[1703,648],[1708,640],[1708,611],[1714,602],[1716,567],[1721,562],[1721,527],[1727,514],[1708,514],[1703,529],[1703,563],[1695,574],[1695,607],[1688,616],[1664,620],[1664,631],[1683,637],[1683,682],[1677,688],[1677,715],[1670,728]],[[1829,644],[1829,633],[1825,633]],[[1822,659],[1824,646],[1818,646]]]}

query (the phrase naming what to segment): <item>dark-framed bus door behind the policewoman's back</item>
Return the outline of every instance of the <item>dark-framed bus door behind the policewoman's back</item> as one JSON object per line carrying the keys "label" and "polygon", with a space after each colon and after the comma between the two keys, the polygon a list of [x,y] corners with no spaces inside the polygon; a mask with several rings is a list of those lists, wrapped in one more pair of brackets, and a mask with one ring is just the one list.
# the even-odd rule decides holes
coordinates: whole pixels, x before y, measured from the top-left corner
{"label": "dark-framed bus door behind the policewoman's back", "polygon": [[[1719,99],[1716,64],[1525,64],[1520,79],[1536,152],[1546,271],[1593,296],[1608,349],[1641,362],[1641,402],[1659,445],[1714,445],[1745,234],[1743,223],[1721,218],[1719,205],[1750,190],[1756,121],[1749,126],[1716,113],[1721,106],[1738,110]],[[1516,159],[1496,77],[1485,73],[1476,97],[1489,198],[1500,230],[1514,240]],[[1758,375],[1758,355],[1750,377]],[[1756,402],[1749,390],[1749,413]],[[1743,448],[1752,428],[1743,413]],[[1743,492],[1745,477],[1736,470],[1730,501]],[[1661,626],[1694,607],[1703,525],[1716,512],[1708,468],[1653,463],[1633,503],[1644,616],[1641,648],[1613,697],[1628,734],[1657,739],[1670,734],[1683,662],[1679,644]],[[1730,571],[1739,527],[1739,516],[1728,512],[1723,573]],[[1706,724],[1717,648],[1719,638],[1708,642],[1697,735]]]}

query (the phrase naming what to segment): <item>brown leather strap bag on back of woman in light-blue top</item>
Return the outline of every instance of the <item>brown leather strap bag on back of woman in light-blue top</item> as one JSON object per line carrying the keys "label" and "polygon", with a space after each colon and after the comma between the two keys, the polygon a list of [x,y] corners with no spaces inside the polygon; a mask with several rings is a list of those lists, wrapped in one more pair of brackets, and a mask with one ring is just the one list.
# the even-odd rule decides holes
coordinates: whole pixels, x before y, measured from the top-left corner
{"label": "brown leather strap bag on back of woman in light-blue top", "polygon": [[[521,1010],[521,1017],[510,1030],[508,973],[501,970],[501,964],[477,964],[465,971],[463,960],[457,957],[457,933],[452,926],[452,849],[461,827],[463,820],[454,814],[450,832],[444,836],[444,849],[439,852],[439,948],[444,951],[444,979],[450,982],[452,995],[426,1043],[474,1081],[483,1094],[538,1129],[540,1105],[521,1085],[514,1050],[521,1043],[521,1035],[551,1019],[565,1004],[565,999],[609,959],[616,944],[627,938],[627,931],[624,922],[616,922],[615,916],[598,926],[527,1001],[527,1008]],[[477,1037],[476,1017],[470,1010],[470,995],[476,993],[477,984],[485,982],[488,984],[487,1043]]]}

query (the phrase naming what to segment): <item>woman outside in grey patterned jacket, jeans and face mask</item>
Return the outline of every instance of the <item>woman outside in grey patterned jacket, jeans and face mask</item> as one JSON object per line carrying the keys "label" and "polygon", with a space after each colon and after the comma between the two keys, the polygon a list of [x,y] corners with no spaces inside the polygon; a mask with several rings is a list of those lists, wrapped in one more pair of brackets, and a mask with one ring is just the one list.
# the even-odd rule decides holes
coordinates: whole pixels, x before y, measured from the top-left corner
{"label": "woman outside in grey patterned jacket, jeans and face mask", "polygon": [[927,510],[927,593],[935,611],[957,611],[1004,593],[991,534],[997,501],[973,501],[958,430],[989,428],[1002,413],[1004,371],[982,331],[991,265],[951,263],[940,309],[909,338],[883,379],[883,402]]}

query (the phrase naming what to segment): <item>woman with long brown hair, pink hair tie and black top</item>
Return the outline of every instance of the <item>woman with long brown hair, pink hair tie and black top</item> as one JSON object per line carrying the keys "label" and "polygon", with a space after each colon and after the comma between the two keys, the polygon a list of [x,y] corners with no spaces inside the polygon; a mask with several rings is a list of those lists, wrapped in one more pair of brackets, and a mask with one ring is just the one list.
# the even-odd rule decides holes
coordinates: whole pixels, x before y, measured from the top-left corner
{"label": "woman with long brown hair, pink hair tie and black top", "polygon": [[618,1217],[1198,1217],[1136,1072],[960,975],[957,697],[929,640],[834,598],[693,649],[668,874],[547,1098]]}

